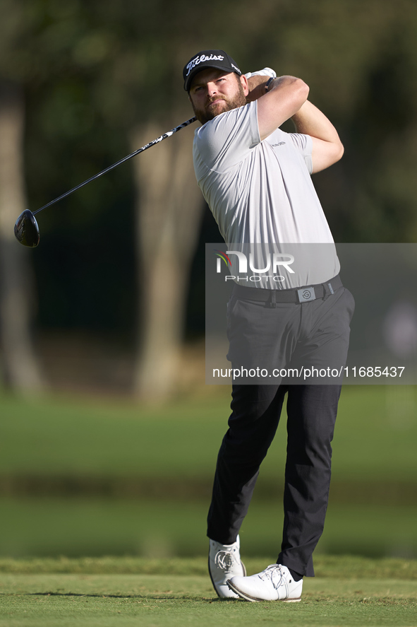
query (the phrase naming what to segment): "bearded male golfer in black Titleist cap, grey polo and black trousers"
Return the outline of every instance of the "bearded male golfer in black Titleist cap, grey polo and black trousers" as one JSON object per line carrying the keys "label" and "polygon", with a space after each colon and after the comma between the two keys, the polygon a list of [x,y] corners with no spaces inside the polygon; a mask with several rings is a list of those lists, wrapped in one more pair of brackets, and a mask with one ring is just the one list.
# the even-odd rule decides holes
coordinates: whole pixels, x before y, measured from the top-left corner
{"label": "bearded male golfer in black Titleist cap, grey polo and black trousers", "polygon": [[[339,278],[332,234],[310,179],[342,157],[336,129],[307,100],[308,86],[300,78],[276,77],[269,68],[243,75],[223,50],[195,54],[183,78],[202,124],[193,144],[195,175],[224,241],[229,246],[323,245],[327,250],[325,264],[320,255],[309,257],[291,275],[291,285],[234,286],[228,305],[229,360],[239,364],[245,356],[253,360],[268,353],[280,369],[294,363],[325,366],[327,361],[343,366],[354,303]],[[296,133],[279,129],[289,118]],[[340,391],[339,381],[234,382],[207,529],[210,577],[219,597],[301,599],[303,576],[314,576],[312,553],[325,522]],[[286,394],[281,551],[277,563],[247,577],[238,532]]]}

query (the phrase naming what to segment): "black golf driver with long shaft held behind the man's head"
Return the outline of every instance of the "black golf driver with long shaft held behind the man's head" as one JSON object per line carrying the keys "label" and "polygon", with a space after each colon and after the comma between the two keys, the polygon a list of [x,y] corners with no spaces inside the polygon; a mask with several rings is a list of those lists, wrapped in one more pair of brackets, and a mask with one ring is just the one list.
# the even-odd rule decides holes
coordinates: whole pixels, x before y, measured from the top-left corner
{"label": "black golf driver with long shaft held behind the man's head", "polygon": [[37,221],[36,221],[36,218],[35,218],[35,215],[37,213],[40,213],[40,211],[43,211],[44,209],[47,209],[47,207],[55,204],[59,200],[62,200],[63,198],[66,198],[67,196],[69,196],[73,192],[76,192],[77,189],[80,189],[81,187],[84,187],[84,185],[86,185],[87,183],[90,183],[91,181],[94,181],[95,179],[98,179],[98,177],[106,174],[107,172],[110,172],[110,170],[113,170],[118,165],[121,165],[121,163],[124,163],[125,161],[128,161],[129,159],[131,159],[132,157],[135,157],[139,153],[143,153],[143,151],[147,150],[147,148],[150,148],[151,146],[155,146],[155,144],[159,143],[159,141],[162,141],[163,139],[167,139],[167,137],[170,137],[171,135],[174,135],[174,133],[176,133],[176,131],[180,131],[181,129],[183,129],[185,127],[188,127],[188,124],[192,124],[193,122],[195,122],[196,119],[197,119],[196,117],[191,117],[190,119],[186,120],[186,122],[183,122],[182,124],[179,124],[178,127],[175,127],[174,129],[171,129],[171,131],[168,131],[167,133],[164,133],[160,137],[157,137],[157,139],[154,139],[153,141],[150,141],[150,143],[147,143],[145,146],[142,146],[142,148],[138,148],[137,151],[135,151],[134,153],[131,153],[130,155],[128,155],[128,156],[124,157],[123,159],[117,161],[113,165],[109,165],[109,167],[106,168],[105,170],[102,170],[102,172],[99,172],[98,174],[90,177],[89,179],[87,179],[83,183],[80,183],[76,187],[73,187],[73,189],[70,189],[68,192],[65,192],[65,194],[61,194],[61,196],[59,196],[58,198],[50,201],[49,203],[47,203],[46,205],[44,205],[40,209],[37,209],[33,213],[32,213],[32,211],[29,211],[29,209],[25,209],[25,211],[20,213],[20,216],[16,220],[16,224],[15,224],[14,231],[15,231],[15,236],[16,236],[16,239],[18,240],[18,242],[20,242],[20,244],[23,244],[23,246],[28,246],[28,247],[31,247],[31,248],[35,248],[39,244],[39,240],[40,240],[39,226],[37,225]]}

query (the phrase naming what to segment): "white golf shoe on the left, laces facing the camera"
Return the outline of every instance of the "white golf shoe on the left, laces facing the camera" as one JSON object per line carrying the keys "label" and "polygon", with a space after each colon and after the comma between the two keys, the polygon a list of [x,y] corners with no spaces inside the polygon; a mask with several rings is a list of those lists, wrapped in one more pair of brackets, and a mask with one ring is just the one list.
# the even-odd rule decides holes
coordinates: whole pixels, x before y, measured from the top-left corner
{"label": "white golf shoe on the left, laces facing the camera", "polygon": [[234,544],[220,544],[215,540],[210,540],[209,573],[214,590],[219,597],[238,599],[238,594],[230,590],[227,580],[236,576],[241,579],[246,575],[239,546],[239,537]]}

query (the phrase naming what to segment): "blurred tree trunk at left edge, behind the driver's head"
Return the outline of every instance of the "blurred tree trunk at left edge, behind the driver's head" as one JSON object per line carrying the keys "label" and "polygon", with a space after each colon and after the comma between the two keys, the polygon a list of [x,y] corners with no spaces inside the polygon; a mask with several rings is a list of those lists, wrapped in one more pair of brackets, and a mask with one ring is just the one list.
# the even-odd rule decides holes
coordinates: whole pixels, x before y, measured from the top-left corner
{"label": "blurred tree trunk at left edge, behind the driver's head", "polygon": [[1,378],[19,392],[43,387],[30,334],[33,314],[30,250],[18,244],[13,226],[25,209],[23,98],[0,82],[0,359]]}

